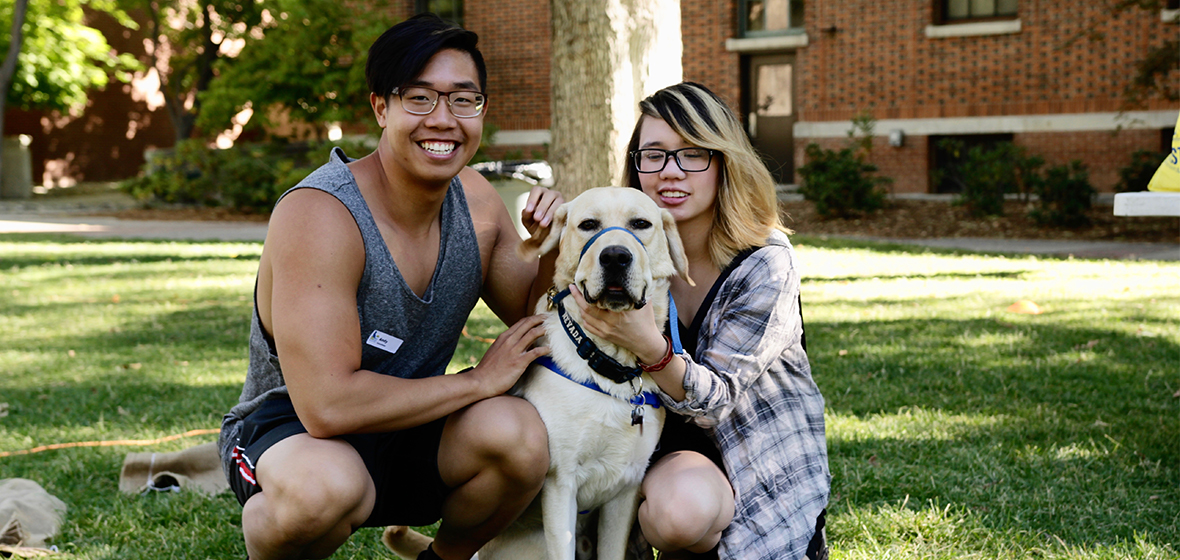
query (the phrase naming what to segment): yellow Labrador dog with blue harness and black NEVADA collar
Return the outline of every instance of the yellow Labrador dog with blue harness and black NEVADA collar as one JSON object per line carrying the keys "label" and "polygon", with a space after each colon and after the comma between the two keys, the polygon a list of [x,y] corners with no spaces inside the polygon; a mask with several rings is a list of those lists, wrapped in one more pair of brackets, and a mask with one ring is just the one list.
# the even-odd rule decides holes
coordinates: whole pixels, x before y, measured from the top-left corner
{"label": "yellow Labrador dog with blue harness and black NEVADA collar", "polygon": [[[549,430],[550,467],[537,502],[479,552],[480,560],[573,560],[578,520],[598,509],[597,556],[622,560],[638,507],[640,482],[663,428],[651,376],[628,350],[581,327],[566,286],[592,305],[624,311],[651,305],[668,321],[669,278],[688,278],[688,261],[667,210],[635,189],[591,189],[563,204],[553,223],[522,244],[536,258],[560,249],[553,285],[538,304],[546,315],[549,360],[522,376],[513,394],[529,400]],[[539,512],[538,509],[539,505]]]}

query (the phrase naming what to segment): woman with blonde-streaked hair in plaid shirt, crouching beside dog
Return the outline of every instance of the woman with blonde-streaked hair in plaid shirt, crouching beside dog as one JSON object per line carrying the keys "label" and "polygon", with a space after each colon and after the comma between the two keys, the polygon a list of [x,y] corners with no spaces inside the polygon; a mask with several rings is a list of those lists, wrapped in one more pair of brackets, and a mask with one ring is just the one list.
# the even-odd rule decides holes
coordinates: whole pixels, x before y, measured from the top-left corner
{"label": "woman with blonde-streaked hair in plaid shirt, crouching beside dog", "polygon": [[684,351],[671,355],[650,305],[604,311],[575,290],[585,327],[656,369],[673,413],[643,481],[640,527],[661,558],[826,558],[824,397],[774,180],[704,86],[677,84],[640,107],[624,185],[676,219],[695,281],[671,285],[669,328]]}

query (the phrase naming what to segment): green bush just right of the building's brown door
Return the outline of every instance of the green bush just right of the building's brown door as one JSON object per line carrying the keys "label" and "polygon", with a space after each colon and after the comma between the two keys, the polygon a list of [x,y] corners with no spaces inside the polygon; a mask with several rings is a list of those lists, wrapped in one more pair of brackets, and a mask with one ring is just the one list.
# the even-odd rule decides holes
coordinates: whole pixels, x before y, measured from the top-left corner
{"label": "green bush just right of the building's brown door", "polygon": [[805,153],[807,165],[799,167],[804,178],[799,193],[820,216],[848,218],[885,205],[880,185],[890,179],[872,177],[877,166],[865,163],[852,147],[835,151],[808,144]]}

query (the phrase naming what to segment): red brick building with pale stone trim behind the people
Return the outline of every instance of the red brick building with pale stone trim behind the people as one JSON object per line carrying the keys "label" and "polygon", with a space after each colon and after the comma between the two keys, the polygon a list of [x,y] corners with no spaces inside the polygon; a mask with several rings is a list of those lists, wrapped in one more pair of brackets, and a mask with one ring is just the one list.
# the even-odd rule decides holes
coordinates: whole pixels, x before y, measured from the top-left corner
{"label": "red brick building with pale stone trim behind the people", "polygon": [[[1081,159],[1092,183],[1110,191],[1132,152],[1171,146],[1180,104],[1155,98],[1123,111],[1122,92],[1135,61],[1180,34],[1178,4],[1115,15],[1101,4],[1044,0],[681,0],[683,75],[741,112],[785,184],[808,143],[843,146],[852,118],[867,114],[872,162],[894,192],[939,190],[930,172],[945,159],[937,146],[946,137],[1011,140],[1049,164]],[[543,157],[549,0],[396,6],[399,19],[431,9],[479,33],[487,120],[499,131],[492,156]],[[129,88],[100,94],[73,129],[9,113],[8,132],[34,134],[34,177],[127,177],[143,147],[171,141],[163,108],[130,97]]]}

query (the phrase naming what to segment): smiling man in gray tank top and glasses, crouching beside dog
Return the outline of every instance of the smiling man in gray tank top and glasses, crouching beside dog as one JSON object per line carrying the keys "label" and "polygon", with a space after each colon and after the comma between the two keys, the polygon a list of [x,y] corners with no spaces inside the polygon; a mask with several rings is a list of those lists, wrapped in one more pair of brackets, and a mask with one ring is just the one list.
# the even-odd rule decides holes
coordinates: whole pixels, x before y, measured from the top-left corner
{"label": "smiling man in gray tank top and glasses, crouching beside dog", "polygon": [[[366,68],[376,151],[334,150],[275,206],[219,442],[251,559],[326,558],[358,527],[439,519],[419,558],[466,559],[540,489],[545,427],[503,394],[548,353],[527,315],[552,262],[516,257],[507,210],[465,167],[486,110],[477,40],[432,15],[387,31]],[[560,202],[535,190],[526,225]],[[442,375],[480,297],[512,327]]]}

